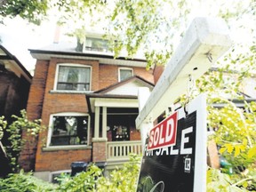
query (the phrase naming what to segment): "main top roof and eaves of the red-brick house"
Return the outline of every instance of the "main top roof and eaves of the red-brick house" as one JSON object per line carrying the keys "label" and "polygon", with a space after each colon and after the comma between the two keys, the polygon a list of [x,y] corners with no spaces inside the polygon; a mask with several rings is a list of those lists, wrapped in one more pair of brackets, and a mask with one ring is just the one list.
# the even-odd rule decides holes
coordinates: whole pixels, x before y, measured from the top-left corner
{"label": "main top roof and eaves of the red-brick house", "polygon": [[41,49],[29,49],[32,57],[36,60],[50,60],[52,57],[76,59],[76,60],[99,60],[103,64],[122,65],[130,67],[147,66],[147,60],[141,58],[128,59],[126,57],[115,58],[112,52],[76,51],[76,44],[72,42],[60,42],[51,44]]}

